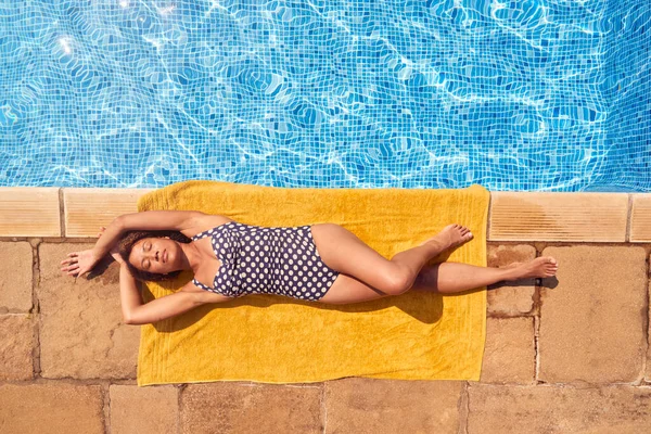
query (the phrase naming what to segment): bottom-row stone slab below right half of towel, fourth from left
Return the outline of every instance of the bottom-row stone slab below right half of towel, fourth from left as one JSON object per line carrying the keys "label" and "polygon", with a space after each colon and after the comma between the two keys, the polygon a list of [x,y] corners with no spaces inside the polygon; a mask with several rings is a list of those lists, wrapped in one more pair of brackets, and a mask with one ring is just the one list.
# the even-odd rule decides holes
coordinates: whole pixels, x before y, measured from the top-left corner
{"label": "bottom-row stone slab below right half of towel, fourth from left", "polygon": [[462,381],[349,378],[328,381],[324,433],[454,433]]}

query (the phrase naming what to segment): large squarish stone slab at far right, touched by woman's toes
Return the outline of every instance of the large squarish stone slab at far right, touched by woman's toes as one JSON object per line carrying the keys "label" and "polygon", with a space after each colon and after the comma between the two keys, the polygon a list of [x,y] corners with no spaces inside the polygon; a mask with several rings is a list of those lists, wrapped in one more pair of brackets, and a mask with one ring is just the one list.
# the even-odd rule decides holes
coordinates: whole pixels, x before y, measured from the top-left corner
{"label": "large squarish stone slab at far right, touched by woman's toes", "polygon": [[[647,348],[642,247],[547,247],[558,286],[540,290],[539,380],[629,383]],[[545,279],[548,281],[549,279]]]}

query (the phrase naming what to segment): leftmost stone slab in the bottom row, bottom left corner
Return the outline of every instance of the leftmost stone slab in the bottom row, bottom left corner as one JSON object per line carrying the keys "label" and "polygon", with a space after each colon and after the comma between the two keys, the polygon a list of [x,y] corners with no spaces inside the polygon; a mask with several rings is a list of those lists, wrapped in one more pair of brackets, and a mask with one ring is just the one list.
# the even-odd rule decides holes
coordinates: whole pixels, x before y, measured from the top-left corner
{"label": "leftmost stone slab in the bottom row, bottom left corner", "polygon": [[101,386],[0,385],[0,432],[104,434]]}

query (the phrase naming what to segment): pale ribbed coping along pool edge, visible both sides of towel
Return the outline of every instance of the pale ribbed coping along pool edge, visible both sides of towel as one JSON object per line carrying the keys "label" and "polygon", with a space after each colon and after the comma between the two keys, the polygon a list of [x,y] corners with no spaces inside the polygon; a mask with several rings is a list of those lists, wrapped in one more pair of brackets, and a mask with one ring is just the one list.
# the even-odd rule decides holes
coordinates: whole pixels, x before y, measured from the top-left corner
{"label": "pale ribbed coping along pool edge, visible both sides of towel", "polygon": [[[153,190],[0,188],[0,239],[94,238]],[[651,193],[490,192],[487,241],[651,242]]]}

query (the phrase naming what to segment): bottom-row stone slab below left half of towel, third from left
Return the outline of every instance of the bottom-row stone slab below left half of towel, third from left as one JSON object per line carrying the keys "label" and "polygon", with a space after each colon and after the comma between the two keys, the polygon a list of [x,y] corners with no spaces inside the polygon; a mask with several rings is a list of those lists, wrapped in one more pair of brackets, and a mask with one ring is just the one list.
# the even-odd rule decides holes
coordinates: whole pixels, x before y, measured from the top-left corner
{"label": "bottom-row stone slab below left half of towel, third from left", "polygon": [[214,382],[181,393],[182,433],[322,433],[321,385]]}

